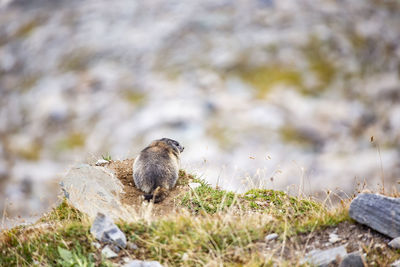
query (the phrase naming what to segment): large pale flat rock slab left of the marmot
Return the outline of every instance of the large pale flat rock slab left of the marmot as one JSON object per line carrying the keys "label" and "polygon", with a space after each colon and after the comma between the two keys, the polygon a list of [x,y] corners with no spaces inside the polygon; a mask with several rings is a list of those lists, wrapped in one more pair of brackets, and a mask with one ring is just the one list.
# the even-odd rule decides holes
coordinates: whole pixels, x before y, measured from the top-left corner
{"label": "large pale flat rock slab left of the marmot", "polygon": [[132,217],[132,211],[121,203],[122,183],[107,168],[87,164],[73,167],[61,186],[68,202],[91,219],[99,212],[113,220]]}

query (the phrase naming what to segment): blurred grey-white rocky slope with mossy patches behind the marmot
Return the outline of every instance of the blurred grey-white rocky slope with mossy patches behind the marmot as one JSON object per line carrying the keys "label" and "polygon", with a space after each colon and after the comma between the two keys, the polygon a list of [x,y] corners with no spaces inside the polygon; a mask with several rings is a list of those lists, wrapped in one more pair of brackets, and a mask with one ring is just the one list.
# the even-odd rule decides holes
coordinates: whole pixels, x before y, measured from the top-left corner
{"label": "blurred grey-white rocky slope with mossy patches behind the marmot", "polygon": [[70,166],[160,137],[238,192],[399,190],[398,0],[0,6],[3,225],[48,209]]}

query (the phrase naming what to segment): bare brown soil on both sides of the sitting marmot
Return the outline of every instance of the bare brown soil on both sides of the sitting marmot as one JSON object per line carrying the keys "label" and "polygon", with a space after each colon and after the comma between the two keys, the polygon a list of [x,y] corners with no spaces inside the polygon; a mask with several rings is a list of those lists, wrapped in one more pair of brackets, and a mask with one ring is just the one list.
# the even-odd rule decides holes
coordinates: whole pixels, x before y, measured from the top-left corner
{"label": "bare brown soil on both sides of the sitting marmot", "polygon": [[[140,207],[143,200],[143,192],[135,187],[132,176],[132,166],[134,159],[125,159],[122,161],[110,161],[104,167],[111,169],[124,186],[124,194],[121,201],[124,204]],[[154,204],[153,215],[163,216],[176,211],[180,206],[180,196],[190,190],[188,184],[193,176],[185,171],[179,172],[179,179],[176,186],[170,190],[169,195],[160,203]]]}

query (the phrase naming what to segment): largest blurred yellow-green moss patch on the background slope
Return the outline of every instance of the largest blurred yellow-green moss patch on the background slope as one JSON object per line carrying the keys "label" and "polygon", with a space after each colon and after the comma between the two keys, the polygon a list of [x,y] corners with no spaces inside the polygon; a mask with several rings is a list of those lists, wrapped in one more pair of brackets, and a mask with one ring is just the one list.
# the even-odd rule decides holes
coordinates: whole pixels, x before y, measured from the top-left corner
{"label": "largest blurred yellow-green moss patch on the background slope", "polygon": [[303,87],[301,73],[290,67],[275,65],[239,71],[239,76],[257,90],[262,98],[276,85]]}

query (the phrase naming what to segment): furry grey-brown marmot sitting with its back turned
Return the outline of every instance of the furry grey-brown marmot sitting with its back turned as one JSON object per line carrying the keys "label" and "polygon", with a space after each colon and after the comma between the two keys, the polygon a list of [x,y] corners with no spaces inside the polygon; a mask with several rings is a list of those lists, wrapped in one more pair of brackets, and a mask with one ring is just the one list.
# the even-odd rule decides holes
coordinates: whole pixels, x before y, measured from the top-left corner
{"label": "furry grey-brown marmot sitting with its back turned", "polygon": [[162,138],[143,149],[133,163],[133,181],[145,200],[162,201],[179,177],[180,154],[184,147],[177,141]]}

